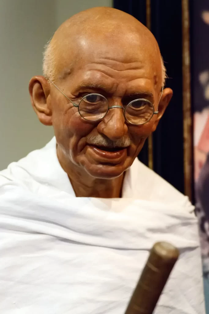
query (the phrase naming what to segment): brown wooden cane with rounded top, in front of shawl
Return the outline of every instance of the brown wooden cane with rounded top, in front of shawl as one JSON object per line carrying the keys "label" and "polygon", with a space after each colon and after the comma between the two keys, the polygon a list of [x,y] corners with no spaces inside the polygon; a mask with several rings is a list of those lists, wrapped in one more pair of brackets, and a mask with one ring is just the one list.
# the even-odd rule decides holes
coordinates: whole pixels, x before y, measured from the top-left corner
{"label": "brown wooden cane with rounded top, in front of shawl", "polygon": [[178,257],[179,251],[172,244],[154,244],[125,314],[153,313]]}

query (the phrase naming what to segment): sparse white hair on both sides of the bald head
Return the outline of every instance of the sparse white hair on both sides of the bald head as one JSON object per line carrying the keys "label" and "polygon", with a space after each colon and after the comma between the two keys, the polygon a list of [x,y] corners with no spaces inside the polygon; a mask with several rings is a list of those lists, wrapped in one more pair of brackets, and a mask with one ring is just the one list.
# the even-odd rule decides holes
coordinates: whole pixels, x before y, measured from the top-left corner
{"label": "sparse white hair on both sides of the bald head", "polygon": [[[48,41],[48,43],[44,46],[44,52],[43,52],[43,74],[45,77],[49,78],[51,81],[54,81],[56,79],[56,71],[55,71],[55,48],[51,44],[51,39]],[[166,75],[166,68],[164,65],[163,57],[161,57],[161,67],[162,67],[162,86],[165,86],[165,80],[167,78]]]}

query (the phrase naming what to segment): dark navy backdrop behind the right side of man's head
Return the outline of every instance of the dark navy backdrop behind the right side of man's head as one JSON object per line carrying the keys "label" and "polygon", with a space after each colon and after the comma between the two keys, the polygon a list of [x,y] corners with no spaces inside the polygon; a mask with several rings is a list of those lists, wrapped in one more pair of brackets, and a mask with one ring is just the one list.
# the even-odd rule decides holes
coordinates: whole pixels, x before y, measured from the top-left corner
{"label": "dark navy backdrop behind the right side of man's head", "polygon": [[[114,8],[146,25],[145,0],[114,0]],[[151,31],[167,69],[173,98],[153,134],[154,171],[184,193],[181,0],[151,0]],[[147,143],[138,156],[148,165]]]}

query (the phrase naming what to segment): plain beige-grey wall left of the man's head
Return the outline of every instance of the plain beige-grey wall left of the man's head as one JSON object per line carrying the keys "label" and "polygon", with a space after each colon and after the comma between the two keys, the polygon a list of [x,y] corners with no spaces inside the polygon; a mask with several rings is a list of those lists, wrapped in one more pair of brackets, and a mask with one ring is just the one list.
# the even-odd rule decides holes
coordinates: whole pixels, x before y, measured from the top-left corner
{"label": "plain beige-grey wall left of the man's head", "polygon": [[29,79],[42,74],[42,51],[71,15],[112,0],[0,0],[0,170],[40,148],[53,129],[38,121]]}

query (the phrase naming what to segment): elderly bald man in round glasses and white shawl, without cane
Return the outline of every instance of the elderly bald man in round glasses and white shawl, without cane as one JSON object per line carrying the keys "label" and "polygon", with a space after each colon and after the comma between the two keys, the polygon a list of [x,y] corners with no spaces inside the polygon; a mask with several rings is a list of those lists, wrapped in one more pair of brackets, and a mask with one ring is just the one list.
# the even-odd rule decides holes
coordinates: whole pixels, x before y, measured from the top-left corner
{"label": "elderly bald man in round glasses and white shawl, without cane", "polygon": [[203,314],[193,207],[136,158],[172,96],[153,35],[89,9],[55,32],[43,69],[29,92],[55,138],[0,173],[1,313],[123,314],[167,240],[181,254],[157,313]]}

